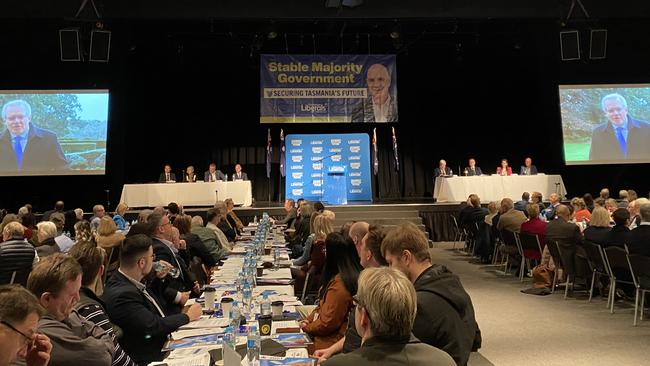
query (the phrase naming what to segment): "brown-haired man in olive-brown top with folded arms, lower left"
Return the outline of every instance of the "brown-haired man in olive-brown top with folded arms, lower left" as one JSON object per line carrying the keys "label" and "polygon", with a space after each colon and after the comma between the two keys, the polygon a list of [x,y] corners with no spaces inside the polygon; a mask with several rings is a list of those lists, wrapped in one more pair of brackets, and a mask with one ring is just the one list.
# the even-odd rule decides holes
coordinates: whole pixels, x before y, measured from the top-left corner
{"label": "brown-haired man in olive-brown top with folded arms, lower left", "polygon": [[47,312],[38,322],[39,332],[52,342],[50,365],[110,366],[115,345],[111,335],[87,321],[75,309],[81,288],[81,266],[72,257],[52,254],[32,270],[27,288]]}

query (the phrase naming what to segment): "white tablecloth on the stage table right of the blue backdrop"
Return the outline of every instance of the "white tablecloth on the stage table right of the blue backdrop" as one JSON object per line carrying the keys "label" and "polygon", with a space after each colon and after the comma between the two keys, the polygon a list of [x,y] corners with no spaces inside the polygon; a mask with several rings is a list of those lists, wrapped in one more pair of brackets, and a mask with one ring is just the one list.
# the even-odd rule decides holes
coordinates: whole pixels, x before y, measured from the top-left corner
{"label": "white tablecloth on the stage table right of the blue backdrop", "polygon": [[544,199],[548,199],[554,192],[565,195],[566,188],[560,175],[438,177],[433,198],[438,202],[463,202],[474,193],[481,201],[500,201],[505,197],[518,201],[524,192],[540,192]]}

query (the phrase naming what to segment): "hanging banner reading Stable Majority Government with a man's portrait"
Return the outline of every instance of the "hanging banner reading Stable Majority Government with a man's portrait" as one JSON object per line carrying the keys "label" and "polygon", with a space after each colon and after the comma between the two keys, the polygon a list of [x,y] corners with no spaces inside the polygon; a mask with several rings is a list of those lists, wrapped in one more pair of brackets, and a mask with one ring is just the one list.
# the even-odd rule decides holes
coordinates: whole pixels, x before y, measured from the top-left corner
{"label": "hanging banner reading Stable Majority Government with a man's portrait", "polygon": [[261,55],[261,123],[397,117],[395,55]]}

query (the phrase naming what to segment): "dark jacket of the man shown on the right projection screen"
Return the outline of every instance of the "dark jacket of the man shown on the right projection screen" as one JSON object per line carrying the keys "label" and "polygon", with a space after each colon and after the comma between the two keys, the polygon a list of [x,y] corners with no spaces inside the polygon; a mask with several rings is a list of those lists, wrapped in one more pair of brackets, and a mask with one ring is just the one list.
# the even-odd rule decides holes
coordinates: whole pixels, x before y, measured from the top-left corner
{"label": "dark jacket of the man shown on the right projection screen", "polygon": [[650,156],[650,124],[627,116],[627,155],[623,156],[612,124],[594,128],[589,160],[642,160]]}

